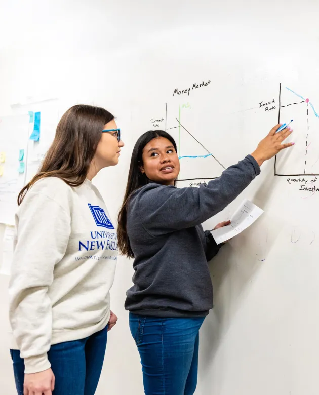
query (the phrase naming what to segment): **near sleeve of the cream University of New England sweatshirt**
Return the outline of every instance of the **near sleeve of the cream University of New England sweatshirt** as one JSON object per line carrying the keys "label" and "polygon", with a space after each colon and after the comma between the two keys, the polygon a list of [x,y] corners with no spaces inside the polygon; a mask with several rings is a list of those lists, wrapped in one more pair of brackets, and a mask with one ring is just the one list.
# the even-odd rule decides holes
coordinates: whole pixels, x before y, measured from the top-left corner
{"label": "near sleeve of the cream University of New England sweatshirt", "polygon": [[70,213],[44,193],[27,192],[16,215],[9,318],[25,373],[50,368],[52,305],[47,294],[70,235]]}

